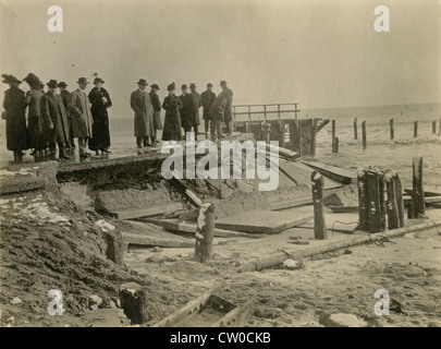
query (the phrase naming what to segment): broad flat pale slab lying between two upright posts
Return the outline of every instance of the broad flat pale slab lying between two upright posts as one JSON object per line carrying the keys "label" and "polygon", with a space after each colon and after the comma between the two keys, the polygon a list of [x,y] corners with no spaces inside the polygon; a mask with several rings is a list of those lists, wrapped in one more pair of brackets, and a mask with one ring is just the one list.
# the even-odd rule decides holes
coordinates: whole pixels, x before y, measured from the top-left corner
{"label": "broad flat pale slab lying between two upright posts", "polygon": [[308,212],[247,210],[218,219],[215,227],[249,233],[278,233],[314,219],[309,208]]}

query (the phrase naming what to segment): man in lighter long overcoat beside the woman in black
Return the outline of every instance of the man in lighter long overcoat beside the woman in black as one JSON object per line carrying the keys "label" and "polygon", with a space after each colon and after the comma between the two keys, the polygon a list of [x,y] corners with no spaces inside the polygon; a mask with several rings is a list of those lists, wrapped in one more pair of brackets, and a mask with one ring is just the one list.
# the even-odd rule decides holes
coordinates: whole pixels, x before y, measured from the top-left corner
{"label": "man in lighter long overcoat beside the woman in black", "polygon": [[78,148],[81,157],[88,157],[90,153],[86,152],[88,139],[91,136],[91,111],[89,100],[85,93],[89,82],[86,77],[79,77],[78,88],[71,94],[70,112],[72,115],[72,128],[74,137],[78,139]]}

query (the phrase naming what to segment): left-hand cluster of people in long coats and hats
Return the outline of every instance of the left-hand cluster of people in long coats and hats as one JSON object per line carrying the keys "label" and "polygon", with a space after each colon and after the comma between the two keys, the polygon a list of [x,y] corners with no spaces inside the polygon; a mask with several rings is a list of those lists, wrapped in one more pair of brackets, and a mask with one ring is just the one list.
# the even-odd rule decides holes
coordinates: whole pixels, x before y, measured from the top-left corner
{"label": "left-hand cluster of people in long coats and hats", "polygon": [[23,151],[29,148],[36,161],[70,159],[75,137],[81,157],[91,155],[87,146],[97,154],[110,153],[107,109],[112,103],[102,87],[102,79],[95,79],[95,87],[87,95],[86,77],[78,79],[78,88],[72,93],[66,89],[66,83],[50,80],[45,93],[38,76],[29,73],[23,80],[30,88],[26,94],[19,88],[22,81],[13,75],[2,74],[2,82],[10,85],[4,93],[2,118],[7,120],[7,146],[14,153],[14,161],[22,161]]}

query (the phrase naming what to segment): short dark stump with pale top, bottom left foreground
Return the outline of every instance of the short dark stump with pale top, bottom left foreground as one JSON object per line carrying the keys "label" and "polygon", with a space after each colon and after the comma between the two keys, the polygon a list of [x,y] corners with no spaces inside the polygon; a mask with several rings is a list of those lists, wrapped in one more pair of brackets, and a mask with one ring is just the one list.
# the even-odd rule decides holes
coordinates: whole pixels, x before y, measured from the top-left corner
{"label": "short dark stump with pale top, bottom left foreground", "polygon": [[121,306],[132,324],[144,324],[148,321],[147,290],[135,282],[120,287]]}

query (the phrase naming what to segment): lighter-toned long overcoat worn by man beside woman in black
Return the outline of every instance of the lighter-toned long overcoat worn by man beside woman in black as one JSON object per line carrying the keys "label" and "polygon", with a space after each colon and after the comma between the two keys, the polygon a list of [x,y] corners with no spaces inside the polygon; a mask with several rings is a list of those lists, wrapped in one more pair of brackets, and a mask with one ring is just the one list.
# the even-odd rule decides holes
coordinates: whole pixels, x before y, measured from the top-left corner
{"label": "lighter-toned long overcoat worn by man beside woman in black", "polygon": [[86,93],[77,88],[71,94],[69,112],[72,116],[72,128],[75,137],[90,137],[91,111]]}

